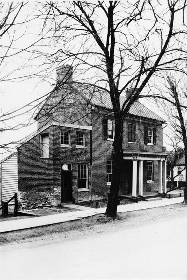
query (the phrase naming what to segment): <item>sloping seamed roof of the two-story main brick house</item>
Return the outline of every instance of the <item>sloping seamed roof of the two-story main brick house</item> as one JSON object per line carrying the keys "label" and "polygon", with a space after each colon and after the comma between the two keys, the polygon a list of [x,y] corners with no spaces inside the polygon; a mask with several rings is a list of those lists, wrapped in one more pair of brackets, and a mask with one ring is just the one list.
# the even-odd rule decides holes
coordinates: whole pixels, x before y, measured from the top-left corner
{"label": "sloping seamed roof of the two-story main brick house", "polygon": [[[88,102],[88,104],[99,106],[99,107],[104,107],[106,109],[112,109],[112,102],[110,99],[110,94],[107,91],[100,90],[96,87],[94,88],[93,86],[79,84],[76,82],[72,83],[72,87],[77,93],[79,93]],[[56,90],[56,88],[53,91],[51,91],[51,94],[55,90]],[[48,98],[49,98],[49,96],[48,96]],[[120,96],[120,105],[121,106],[125,100],[126,100],[125,96]],[[41,111],[42,107],[40,108],[39,112]],[[38,112],[38,114],[39,114],[39,112]],[[152,112],[150,109],[148,109],[146,106],[144,106],[143,104],[141,104],[138,101],[136,101],[136,102],[134,102],[134,104],[132,104],[131,108],[129,109],[128,114],[140,116],[143,118],[149,118],[152,120],[160,121],[161,123],[165,123],[164,119],[162,119],[159,115],[155,114],[154,112]],[[36,117],[34,119],[36,119]]]}

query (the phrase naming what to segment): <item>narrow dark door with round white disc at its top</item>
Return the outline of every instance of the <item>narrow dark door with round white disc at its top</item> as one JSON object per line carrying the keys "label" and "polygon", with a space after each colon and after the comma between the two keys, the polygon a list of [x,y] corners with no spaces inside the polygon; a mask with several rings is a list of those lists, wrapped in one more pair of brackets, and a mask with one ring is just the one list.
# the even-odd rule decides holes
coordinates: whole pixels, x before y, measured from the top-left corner
{"label": "narrow dark door with round white disc at its top", "polygon": [[61,164],[61,202],[72,201],[71,164]]}

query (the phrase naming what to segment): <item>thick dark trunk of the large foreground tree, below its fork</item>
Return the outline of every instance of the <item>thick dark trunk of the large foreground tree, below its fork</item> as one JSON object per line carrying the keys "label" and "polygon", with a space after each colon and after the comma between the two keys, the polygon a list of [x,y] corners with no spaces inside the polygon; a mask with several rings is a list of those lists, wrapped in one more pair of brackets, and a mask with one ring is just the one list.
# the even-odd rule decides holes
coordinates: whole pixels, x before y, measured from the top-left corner
{"label": "thick dark trunk of the large foreground tree, below its fork", "polygon": [[105,212],[106,217],[110,217],[113,220],[117,217],[117,204],[118,204],[118,193],[119,193],[119,184],[122,172],[123,160],[123,150],[122,150],[122,127],[123,121],[117,120],[115,122],[115,138],[114,138],[114,165],[113,165],[113,174],[112,182],[110,186],[110,194],[107,204],[107,209]]}

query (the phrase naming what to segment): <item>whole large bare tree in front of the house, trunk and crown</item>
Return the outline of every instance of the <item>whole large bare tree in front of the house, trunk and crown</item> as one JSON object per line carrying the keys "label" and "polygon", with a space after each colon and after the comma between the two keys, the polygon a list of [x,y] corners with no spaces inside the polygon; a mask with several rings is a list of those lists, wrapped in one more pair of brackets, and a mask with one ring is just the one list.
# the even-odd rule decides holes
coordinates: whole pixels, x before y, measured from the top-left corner
{"label": "whole large bare tree in front of the house, trunk and crown", "polygon": [[[124,117],[140,97],[149,96],[162,71],[185,72],[186,1],[50,2],[44,4],[45,24],[54,32],[55,50],[45,54],[48,66],[75,66],[79,84],[110,94],[115,117],[114,166],[106,216],[117,216],[122,172]],[[93,74],[94,73],[94,74]],[[93,74],[93,76],[91,76]],[[131,89],[126,101],[120,95]]]}

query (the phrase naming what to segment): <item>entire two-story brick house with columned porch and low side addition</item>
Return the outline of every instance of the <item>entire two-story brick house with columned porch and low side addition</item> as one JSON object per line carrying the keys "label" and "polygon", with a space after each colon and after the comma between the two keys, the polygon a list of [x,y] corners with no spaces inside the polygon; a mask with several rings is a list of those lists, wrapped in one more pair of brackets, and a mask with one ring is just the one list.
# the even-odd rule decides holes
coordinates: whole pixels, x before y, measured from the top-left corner
{"label": "entire two-story brick house with columned porch and low side addition", "polygon": [[[20,208],[106,199],[114,139],[108,92],[74,82],[72,67],[61,66],[57,85],[35,119],[37,132],[17,147]],[[141,103],[132,105],[123,126],[121,196],[166,193],[164,123]]]}

